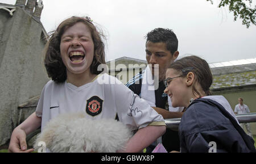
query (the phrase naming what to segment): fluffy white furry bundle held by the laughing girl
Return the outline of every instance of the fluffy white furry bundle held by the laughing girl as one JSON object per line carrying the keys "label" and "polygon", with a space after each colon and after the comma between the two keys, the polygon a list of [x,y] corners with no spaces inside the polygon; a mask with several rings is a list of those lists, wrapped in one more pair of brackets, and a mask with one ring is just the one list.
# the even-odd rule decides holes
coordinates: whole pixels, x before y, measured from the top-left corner
{"label": "fluffy white furry bundle held by the laughing girl", "polygon": [[123,123],[113,119],[86,119],[83,113],[65,113],[46,124],[36,138],[44,141],[51,152],[114,153],[124,150],[131,131]]}

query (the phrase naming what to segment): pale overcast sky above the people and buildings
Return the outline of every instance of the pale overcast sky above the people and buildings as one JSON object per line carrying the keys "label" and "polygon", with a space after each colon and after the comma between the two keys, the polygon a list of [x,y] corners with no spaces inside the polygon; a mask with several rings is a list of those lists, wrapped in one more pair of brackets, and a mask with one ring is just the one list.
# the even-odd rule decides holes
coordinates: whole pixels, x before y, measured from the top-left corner
{"label": "pale overcast sky above the people and buildings", "polygon": [[[0,0],[14,5],[16,0]],[[119,57],[146,60],[144,36],[169,28],[179,40],[179,57],[191,54],[207,62],[256,57],[256,26],[234,21],[228,7],[206,0],[43,0],[41,22],[47,32],[73,15],[89,16],[107,36],[106,61]],[[253,5],[255,2],[253,1]]]}

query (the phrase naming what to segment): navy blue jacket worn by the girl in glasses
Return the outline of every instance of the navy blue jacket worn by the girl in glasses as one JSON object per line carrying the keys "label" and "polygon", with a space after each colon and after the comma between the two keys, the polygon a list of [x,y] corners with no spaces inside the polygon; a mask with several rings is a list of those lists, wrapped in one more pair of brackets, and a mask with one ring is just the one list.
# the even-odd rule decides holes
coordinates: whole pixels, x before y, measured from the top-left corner
{"label": "navy blue jacket worn by the girl in glasses", "polygon": [[211,141],[216,143],[217,153],[256,152],[253,138],[221,104],[211,99],[199,98],[189,105],[180,121],[179,137],[181,153],[208,153],[212,150]]}

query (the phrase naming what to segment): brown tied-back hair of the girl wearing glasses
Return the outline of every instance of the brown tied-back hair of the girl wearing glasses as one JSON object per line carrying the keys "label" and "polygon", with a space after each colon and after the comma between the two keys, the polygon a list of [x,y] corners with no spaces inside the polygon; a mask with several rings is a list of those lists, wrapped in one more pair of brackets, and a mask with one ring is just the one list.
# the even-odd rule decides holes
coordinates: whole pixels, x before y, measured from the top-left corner
{"label": "brown tied-back hair of the girl wearing glasses", "polygon": [[[210,86],[212,85],[213,76],[212,72],[210,72],[207,61],[197,56],[188,56],[173,62],[169,68],[176,70],[178,73],[182,73],[184,77],[189,72],[193,72],[195,74],[195,82],[198,82],[201,85],[205,94],[212,95],[210,92]],[[187,69],[189,71],[184,71],[186,70],[185,68],[189,68]],[[199,91],[195,89],[194,85],[192,86],[192,90],[194,95],[196,93],[201,97]]]}

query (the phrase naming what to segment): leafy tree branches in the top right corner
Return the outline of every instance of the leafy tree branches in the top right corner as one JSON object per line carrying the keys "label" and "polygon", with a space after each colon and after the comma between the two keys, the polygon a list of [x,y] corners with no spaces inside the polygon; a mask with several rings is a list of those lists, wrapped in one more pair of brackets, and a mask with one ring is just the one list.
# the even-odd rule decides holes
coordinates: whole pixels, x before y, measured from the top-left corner
{"label": "leafy tree branches in the top right corner", "polygon": [[[213,4],[213,0],[207,0]],[[249,6],[246,5],[249,2]],[[251,2],[253,0],[221,0],[218,7],[224,7],[229,5],[229,11],[234,12],[234,21],[240,16],[242,19],[242,24],[245,24],[247,28],[250,27],[250,23],[256,25],[256,6],[251,7]]]}

